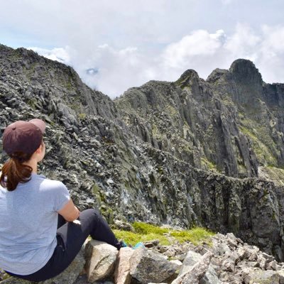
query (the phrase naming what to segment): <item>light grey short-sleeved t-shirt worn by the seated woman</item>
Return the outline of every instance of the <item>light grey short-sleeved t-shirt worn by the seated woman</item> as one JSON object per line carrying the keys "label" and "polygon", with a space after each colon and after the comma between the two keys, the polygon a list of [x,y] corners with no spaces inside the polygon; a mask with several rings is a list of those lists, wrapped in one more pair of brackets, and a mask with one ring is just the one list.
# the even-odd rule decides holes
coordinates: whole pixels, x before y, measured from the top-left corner
{"label": "light grey short-sleeved t-shirt worn by the seated woman", "polygon": [[18,275],[43,268],[57,244],[58,211],[68,200],[62,182],[35,173],[16,190],[0,185],[0,268]]}

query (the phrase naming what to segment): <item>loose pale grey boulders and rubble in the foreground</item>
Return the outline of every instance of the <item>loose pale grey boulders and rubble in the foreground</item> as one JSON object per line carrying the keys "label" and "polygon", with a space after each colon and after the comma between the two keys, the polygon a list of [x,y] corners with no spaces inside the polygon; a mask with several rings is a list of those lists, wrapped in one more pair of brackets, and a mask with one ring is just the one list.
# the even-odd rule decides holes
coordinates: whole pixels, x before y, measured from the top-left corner
{"label": "loose pale grey boulders and rubble in the foreground", "polygon": [[[109,246],[107,244],[104,245]],[[86,246],[87,251],[91,248],[92,245]],[[169,250],[172,251],[170,256],[172,261],[168,260],[167,251]],[[86,254],[88,255],[89,253],[87,252]],[[283,283],[284,280],[284,263],[278,263],[273,256],[260,251],[256,246],[244,243],[241,239],[236,238],[234,234],[226,234],[226,236],[217,234],[212,237],[212,241],[209,243],[197,246],[191,243],[160,246],[154,241],[151,249],[121,249],[119,258],[115,262],[115,275],[112,273],[105,278],[106,275],[100,274],[99,271],[101,271],[101,267],[106,267],[107,262],[104,260],[111,258],[112,255],[112,250],[109,250],[109,256],[107,254],[104,256],[93,256],[99,260],[97,261],[97,275],[100,276],[97,277],[97,280],[89,279],[88,281],[84,271],[82,273],[80,271],[73,272],[73,275],[77,275],[77,279],[71,279],[69,275],[70,268],[67,268],[57,278],[47,280],[49,282],[45,281],[43,284],[276,284]],[[121,262],[122,259],[123,261]],[[173,259],[181,264],[176,264]],[[109,271],[112,271],[112,266],[113,264],[109,263]],[[119,277],[117,277],[118,275]],[[62,282],[58,279],[62,279]],[[69,280],[66,282],[66,279]],[[0,281],[0,283],[32,284],[31,282],[12,277]]]}

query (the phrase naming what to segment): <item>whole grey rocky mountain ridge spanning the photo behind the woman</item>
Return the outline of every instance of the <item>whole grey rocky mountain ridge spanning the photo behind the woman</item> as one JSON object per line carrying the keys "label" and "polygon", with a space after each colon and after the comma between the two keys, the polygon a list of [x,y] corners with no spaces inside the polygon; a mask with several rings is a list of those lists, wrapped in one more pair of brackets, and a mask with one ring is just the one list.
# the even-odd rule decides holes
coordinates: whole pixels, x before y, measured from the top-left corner
{"label": "whole grey rocky mountain ridge spanning the photo behind the woman", "polygon": [[[118,99],[72,69],[0,45],[0,131],[47,124],[40,172],[62,180],[80,209],[108,222],[206,226],[283,260],[284,84],[236,60],[207,80],[194,70]],[[1,153],[0,145],[0,153]],[[0,155],[0,164],[7,159]]]}

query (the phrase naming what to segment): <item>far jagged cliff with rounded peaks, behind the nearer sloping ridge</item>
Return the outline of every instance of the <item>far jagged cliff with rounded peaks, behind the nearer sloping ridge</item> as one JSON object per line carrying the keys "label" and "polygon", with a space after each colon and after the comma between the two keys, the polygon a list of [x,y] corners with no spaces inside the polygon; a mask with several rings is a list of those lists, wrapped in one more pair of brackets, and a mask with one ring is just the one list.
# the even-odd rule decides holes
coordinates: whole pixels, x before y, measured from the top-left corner
{"label": "far jagged cliff with rounded peaks, behind the nearer sloping ridge", "polygon": [[283,84],[264,83],[251,61],[236,60],[206,81],[187,70],[175,83],[151,81],[114,102],[153,147],[244,178],[258,177],[258,166],[283,165],[283,97]]}

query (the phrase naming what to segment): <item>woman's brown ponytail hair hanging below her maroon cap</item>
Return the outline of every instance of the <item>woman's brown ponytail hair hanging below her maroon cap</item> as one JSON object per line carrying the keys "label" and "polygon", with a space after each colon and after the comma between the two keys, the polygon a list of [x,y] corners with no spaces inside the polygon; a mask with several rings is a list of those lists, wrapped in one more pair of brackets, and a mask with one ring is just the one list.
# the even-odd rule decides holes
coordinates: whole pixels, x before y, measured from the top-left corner
{"label": "woman's brown ponytail hair hanging below her maroon cap", "polygon": [[29,165],[23,165],[31,159],[33,154],[23,152],[14,152],[11,158],[4,163],[1,169],[0,184],[9,191],[16,189],[18,182],[28,182],[31,180],[33,169]]}

